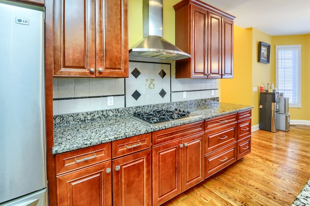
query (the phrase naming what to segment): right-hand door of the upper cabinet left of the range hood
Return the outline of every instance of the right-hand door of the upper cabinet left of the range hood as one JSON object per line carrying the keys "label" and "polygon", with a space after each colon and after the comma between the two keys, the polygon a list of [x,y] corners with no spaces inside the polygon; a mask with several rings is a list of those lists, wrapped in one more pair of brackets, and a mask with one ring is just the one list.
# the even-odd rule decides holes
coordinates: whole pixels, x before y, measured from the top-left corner
{"label": "right-hand door of the upper cabinet left of the range hood", "polygon": [[128,77],[128,0],[96,0],[96,76]]}

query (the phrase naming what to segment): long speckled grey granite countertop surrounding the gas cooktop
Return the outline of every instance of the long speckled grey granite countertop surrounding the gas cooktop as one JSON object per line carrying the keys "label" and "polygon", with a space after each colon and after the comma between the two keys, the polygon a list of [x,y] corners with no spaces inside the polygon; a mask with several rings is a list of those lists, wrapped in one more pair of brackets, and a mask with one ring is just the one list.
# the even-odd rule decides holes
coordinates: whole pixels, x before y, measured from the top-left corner
{"label": "long speckled grey granite countertop surrounding the gas cooktop", "polygon": [[253,107],[220,102],[208,102],[208,104],[202,106],[191,105],[186,110],[200,114],[199,116],[179,119],[156,126],[144,124],[129,115],[109,116],[90,122],[54,125],[52,153],[60,154],[251,108]]}

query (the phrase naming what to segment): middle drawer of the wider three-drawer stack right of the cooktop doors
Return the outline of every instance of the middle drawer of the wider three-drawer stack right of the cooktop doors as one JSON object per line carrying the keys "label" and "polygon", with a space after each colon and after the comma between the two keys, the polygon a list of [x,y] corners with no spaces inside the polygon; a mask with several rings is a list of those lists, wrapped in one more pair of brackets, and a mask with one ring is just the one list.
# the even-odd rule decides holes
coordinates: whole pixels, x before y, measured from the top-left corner
{"label": "middle drawer of the wider three-drawer stack right of the cooktop doors", "polygon": [[205,154],[213,152],[223,146],[237,141],[237,123],[207,130],[205,140]]}

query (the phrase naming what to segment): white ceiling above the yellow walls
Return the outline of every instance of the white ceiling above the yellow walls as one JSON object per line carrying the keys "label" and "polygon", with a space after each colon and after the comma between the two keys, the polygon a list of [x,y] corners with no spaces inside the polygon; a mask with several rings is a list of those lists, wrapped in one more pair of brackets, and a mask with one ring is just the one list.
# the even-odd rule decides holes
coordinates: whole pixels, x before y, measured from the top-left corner
{"label": "white ceiling above the yellow walls", "polygon": [[271,36],[310,34],[310,0],[202,0],[233,16],[234,25]]}

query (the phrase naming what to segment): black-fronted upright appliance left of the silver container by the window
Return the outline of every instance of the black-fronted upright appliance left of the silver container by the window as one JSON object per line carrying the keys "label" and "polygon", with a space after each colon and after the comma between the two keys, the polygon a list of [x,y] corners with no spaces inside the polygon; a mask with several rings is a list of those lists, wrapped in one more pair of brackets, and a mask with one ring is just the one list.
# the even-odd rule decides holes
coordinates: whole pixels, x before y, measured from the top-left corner
{"label": "black-fronted upright appliance left of the silver container by the window", "polygon": [[261,92],[260,94],[260,129],[276,132],[279,93]]}

